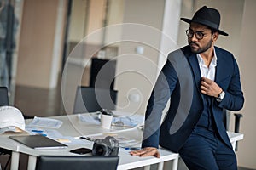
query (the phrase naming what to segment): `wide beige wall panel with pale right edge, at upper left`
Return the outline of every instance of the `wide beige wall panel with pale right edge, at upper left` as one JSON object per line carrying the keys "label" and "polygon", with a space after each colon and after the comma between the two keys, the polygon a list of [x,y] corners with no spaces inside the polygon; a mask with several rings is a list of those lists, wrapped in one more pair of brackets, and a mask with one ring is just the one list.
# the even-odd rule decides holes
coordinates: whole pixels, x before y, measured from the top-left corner
{"label": "wide beige wall panel with pale right edge, at upper left", "polygon": [[56,87],[66,2],[24,1],[16,84],[35,88]]}

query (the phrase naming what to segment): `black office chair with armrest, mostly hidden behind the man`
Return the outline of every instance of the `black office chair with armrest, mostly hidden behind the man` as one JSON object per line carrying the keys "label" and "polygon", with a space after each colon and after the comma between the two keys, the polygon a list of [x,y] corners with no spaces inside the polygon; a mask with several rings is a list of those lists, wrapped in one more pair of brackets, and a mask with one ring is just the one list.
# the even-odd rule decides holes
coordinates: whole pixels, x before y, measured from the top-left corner
{"label": "black office chair with armrest, mostly hidden behind the man", "polygon": [[[229,115],[230,115],[229,111],[227,111],[226,109],[223,109],[223,122],[224,122],[224,127],[226,128],[226,130],[229,130],[229,125],[230,125],[230,119],[227,118],[227,117],[229,117]],[[235,116],[234,132],[239,133],[240,121],[241,121],[242,114],[241,113],[234,113],[234,116]],[[237,150],[237,142],[236,142],[235,150]]]}

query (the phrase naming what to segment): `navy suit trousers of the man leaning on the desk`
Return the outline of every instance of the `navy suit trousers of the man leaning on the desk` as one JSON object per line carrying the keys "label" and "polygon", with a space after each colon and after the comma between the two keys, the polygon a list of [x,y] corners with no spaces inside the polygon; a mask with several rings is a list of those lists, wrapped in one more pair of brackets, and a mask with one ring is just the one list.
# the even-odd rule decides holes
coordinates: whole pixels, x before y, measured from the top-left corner
{"label": "navy suit trousers of the man leaning on the desk", "polygon": [[234,150],[206,127],[195,127],[179,154],[189,170],[237,169]]}

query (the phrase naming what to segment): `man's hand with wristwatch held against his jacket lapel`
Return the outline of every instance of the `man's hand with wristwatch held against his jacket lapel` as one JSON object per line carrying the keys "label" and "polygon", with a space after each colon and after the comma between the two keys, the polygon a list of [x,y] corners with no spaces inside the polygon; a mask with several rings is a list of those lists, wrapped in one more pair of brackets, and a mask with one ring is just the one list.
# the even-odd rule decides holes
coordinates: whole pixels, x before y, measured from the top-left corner
{"label": "man's hand with wristwatch held against his jacket lapel", "polygon": [[218,86],[216,82],[213,82],[212,80],[201,77],[201,93],[207,94],[209,96],[213,96],[215,98],[218,98],[218,94],[222,92],[222,89]]}

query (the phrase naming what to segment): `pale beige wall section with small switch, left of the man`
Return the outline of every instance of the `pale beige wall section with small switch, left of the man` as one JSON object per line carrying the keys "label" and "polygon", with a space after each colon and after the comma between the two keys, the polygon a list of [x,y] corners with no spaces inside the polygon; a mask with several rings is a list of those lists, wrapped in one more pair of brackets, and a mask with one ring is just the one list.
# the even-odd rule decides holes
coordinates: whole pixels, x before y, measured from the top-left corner
{"label": "pale beige wall section with small switch, left of the man", "polygon": [[[125,0],[123,22],[135,24],[123,26],[119,43],[115,88],[121,111],[145,112],[156,77],[164,5],[165,0]],[[137,54],[137,47],[144,53]],[[137,95],[140,99],[134,102],[131,98]]]}

